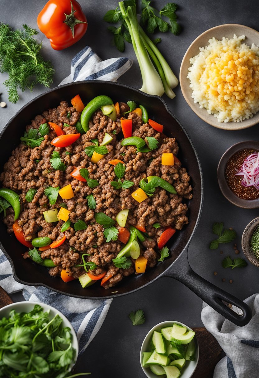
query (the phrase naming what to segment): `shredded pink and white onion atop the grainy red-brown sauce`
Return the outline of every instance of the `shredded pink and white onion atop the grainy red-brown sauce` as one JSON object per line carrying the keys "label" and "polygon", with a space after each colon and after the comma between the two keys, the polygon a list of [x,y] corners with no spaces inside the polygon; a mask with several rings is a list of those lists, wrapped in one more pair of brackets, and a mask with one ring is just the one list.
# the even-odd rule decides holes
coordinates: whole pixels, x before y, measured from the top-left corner
{"label": "shredded pink and white onion atop the grainy red-brown sauce", "polygon": [[241,185],[254,186],[259,190],[259,152],[254,152],[245,158],[242,167],[236,169],[235,176],[243,176]]}

